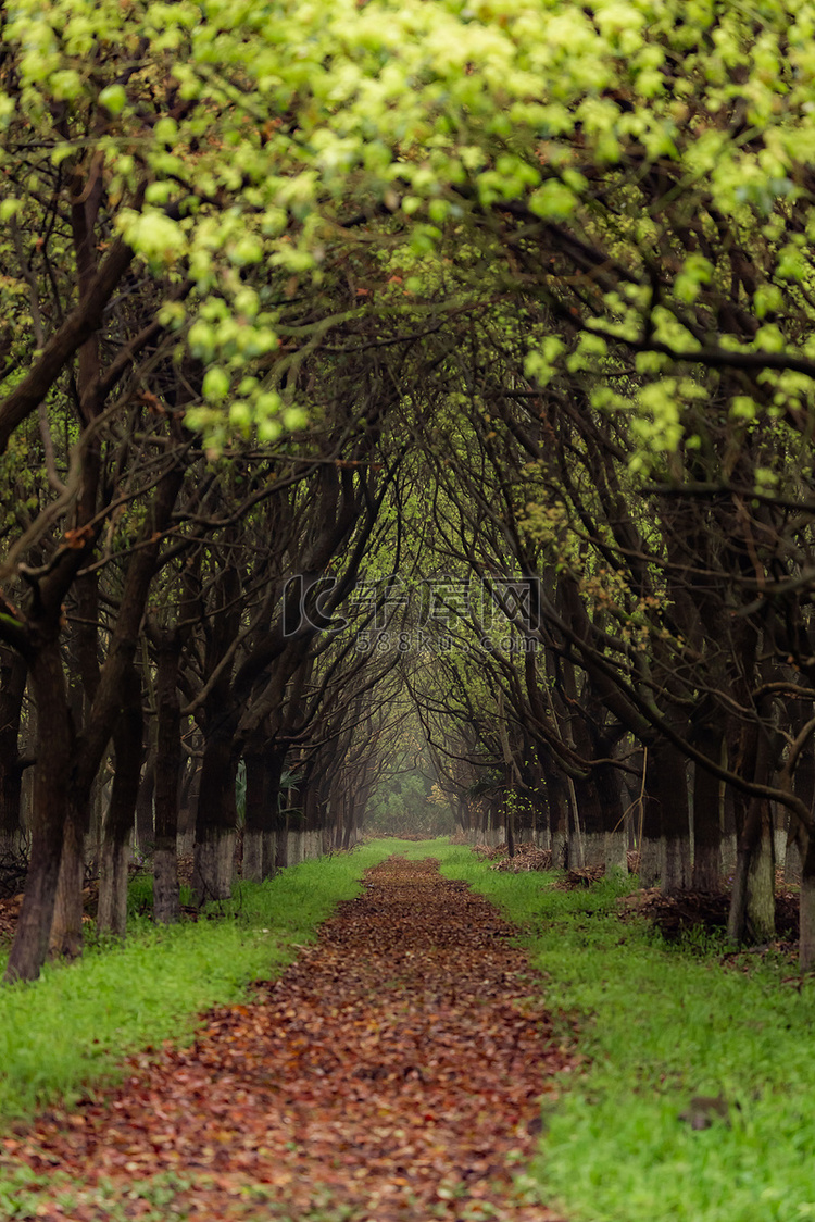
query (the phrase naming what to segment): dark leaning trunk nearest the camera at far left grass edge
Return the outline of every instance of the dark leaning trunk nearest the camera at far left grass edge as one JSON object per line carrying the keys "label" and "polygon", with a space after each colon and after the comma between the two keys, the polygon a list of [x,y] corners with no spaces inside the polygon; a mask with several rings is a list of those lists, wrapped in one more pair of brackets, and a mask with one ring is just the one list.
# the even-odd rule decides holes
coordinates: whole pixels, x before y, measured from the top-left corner
{"label": "dark leaning trunk nearest the camera at far left grass edge", "polygon": [[32,848],[17,932],[4,980],[35,980],[48,953],[62,855],[73,728],[59,643],[48,640],[31,668],[38,743],[32,809]]}

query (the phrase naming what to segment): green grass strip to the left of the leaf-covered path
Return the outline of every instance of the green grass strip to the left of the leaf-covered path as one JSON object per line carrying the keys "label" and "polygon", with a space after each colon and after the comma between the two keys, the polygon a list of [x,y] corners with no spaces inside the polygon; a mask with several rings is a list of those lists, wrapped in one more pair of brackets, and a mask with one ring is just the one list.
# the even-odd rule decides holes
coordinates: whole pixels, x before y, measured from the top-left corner
{"label": "green grass strip to the left of the leaf-covered path", "polygon": [[335,904],[358,893],[362,873],[391,852],[379,842],[242,884],[217,906],[233,919],[165,929],[136,920],[126,942],[90,946],[35,984],[0,989],[0,1127],[70,1105],[115,1077],[127,1052],[188,1037],[198,1013],[279,975],[296,943],[313,940]]}

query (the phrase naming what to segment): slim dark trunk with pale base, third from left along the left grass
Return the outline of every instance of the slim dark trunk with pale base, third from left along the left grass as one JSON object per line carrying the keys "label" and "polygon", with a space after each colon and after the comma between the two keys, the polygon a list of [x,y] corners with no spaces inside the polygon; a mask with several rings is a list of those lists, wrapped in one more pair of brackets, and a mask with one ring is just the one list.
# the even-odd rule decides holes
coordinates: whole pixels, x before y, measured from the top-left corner
{"label": "slim dark trunk with pale base, third from left along the left grass", "polygon": [[97,916],[100,930],[110,930],[119,937],[127,931],[127,864],[142,769],[142,684],[131,666],[125,675],[122,711],[114,731],[116,771],[103,820]]}

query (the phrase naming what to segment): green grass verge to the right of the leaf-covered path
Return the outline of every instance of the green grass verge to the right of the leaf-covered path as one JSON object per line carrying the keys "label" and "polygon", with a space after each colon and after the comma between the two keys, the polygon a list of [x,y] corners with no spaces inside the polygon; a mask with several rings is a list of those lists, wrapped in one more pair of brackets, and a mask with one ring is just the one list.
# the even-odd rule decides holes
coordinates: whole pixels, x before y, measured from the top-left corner
{"label": "green grass verge to the right of the leaf-covered path", "polygon": [[[547,1110],[530,1171],[544,1200],[576,1222],[815,1218],[815,980],[622,925],[627,884],[558,892],[467,849],[433,852],[524,927],[550,1007],[582,1018],[590,1067]],[[678,1119],[689,1096],[720,1091],[729,1128]]]}

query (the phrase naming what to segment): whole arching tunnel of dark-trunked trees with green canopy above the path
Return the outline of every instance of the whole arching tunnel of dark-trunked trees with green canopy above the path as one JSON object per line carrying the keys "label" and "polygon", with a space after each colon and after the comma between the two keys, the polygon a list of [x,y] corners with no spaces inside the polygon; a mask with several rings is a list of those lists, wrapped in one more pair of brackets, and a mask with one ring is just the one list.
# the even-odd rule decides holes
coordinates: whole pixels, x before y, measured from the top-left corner
{"label": "whole arching tunnel of dark-trunked trees with green canopy above the path", "polygon": [[125,932],[134,846],[174,921],[178,846],[203,902],[389,819],[635,851],[737,941],[786,860],[811,967],[811,32],[576,10],[552,100],[519,18],[480,71],[453,5],[176,7],[0,62],[6,979],[88,870]]}

